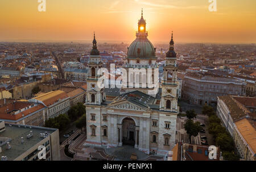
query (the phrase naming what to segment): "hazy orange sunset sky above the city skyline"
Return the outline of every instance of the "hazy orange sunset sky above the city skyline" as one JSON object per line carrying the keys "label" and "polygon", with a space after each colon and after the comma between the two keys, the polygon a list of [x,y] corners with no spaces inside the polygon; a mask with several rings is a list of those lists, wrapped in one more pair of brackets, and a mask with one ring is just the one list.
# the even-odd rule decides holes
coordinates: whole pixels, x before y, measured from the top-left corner
{"label": "hazy orange sunset sky above the city skyline", "polygon": [[0,0],[1,40],[133,41],[138,19],[148,38],[169,42],[256,43],[256,1],[216,0]]}

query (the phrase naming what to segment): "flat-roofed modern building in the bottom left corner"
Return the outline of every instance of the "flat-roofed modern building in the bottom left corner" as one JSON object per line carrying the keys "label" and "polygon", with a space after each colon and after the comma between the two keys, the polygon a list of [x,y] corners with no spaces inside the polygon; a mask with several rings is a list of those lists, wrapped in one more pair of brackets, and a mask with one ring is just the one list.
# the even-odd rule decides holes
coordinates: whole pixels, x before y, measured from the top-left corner
{"label": "flat-roofed modern building in the bottom left corner", "polygon": [[[45,157],[39,148],[45,149]],[[40,154],[40,155],[39,155]],[[59,161],[59,129],[0,121],[1,161]]]}

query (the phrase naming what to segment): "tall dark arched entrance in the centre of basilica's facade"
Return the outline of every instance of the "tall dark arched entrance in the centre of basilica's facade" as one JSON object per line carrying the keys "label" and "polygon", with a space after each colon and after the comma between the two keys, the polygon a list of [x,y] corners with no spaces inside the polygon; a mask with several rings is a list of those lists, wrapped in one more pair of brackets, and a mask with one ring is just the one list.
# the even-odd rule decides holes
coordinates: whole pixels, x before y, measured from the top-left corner
{"label": "tall dark arched entrance in the centre of basilica's facade", "polygon": [[135,121],[131,118],[122,121],[122,142],[123,145],[135,145]]}

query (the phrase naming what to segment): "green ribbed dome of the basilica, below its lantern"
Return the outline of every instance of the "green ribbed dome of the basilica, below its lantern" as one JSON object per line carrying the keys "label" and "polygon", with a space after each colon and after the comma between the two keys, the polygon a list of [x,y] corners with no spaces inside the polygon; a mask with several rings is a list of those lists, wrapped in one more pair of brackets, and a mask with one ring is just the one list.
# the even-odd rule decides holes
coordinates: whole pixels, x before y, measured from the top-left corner
{"label": "green ribbed dome of the basilica, below its lantern", "polygon": [[128,48],[127,58],[156,58],[154,45],[148,39],[135,39]]}

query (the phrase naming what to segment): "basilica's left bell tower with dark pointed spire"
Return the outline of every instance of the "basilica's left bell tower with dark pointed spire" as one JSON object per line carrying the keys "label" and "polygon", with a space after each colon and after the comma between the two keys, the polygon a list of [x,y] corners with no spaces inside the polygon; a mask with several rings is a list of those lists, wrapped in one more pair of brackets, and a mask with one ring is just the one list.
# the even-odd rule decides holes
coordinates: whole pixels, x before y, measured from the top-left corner
{"label": "basilica's left bell tower with dark pointed spire", "polygon": [[101,61],[100,51],[97,49],[97,41],[93,39],[93,49],[90,51],[89,57],[89,70],[87,77],[87,91],[86,91],[86,104],[98,104],[100,105],[106,100],[104,91],[104,79],[100,74],[103,62]]}

